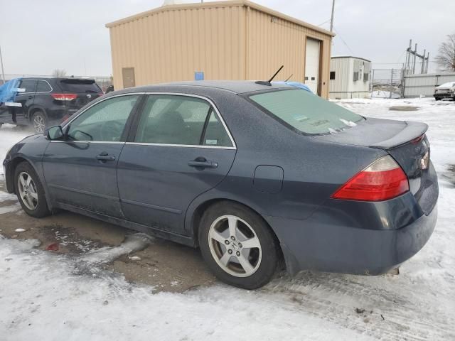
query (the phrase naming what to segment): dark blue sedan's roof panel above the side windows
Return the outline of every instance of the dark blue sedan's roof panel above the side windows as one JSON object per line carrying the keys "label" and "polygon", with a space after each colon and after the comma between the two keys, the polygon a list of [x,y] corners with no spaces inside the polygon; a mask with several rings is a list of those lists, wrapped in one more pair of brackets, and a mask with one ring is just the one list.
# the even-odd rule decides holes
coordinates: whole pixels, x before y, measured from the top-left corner
{"label": "dark blue sedan's roof panel above the side windows", "polygon": [[211,89],[219,89],[228,92],[234,92],[235,94],[243,94],[245,92],[255,92],[272,89],[277,90],[282,89],[284,87],[289,87],[289,85],[274,84],[273,82],[272,85],[261,85],[257,84],[254,80],[196,80],[188,82],[171,82],[156,85],[145,85],[142,87],[129,88],[128,90],[131,91],[132,89],[134,89],[136,91],[153,92],[159,90],[160,87],[174,88],[181,87],[183,89],[185,87],[190,87],[198,88],[198,90],[203,90],[204,87],[207,87]]}

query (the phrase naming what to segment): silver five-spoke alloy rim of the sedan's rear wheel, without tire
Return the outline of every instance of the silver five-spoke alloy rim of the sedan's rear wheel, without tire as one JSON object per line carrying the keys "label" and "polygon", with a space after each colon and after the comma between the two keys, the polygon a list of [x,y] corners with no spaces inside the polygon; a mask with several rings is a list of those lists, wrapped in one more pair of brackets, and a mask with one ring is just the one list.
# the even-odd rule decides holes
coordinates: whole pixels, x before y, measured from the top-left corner
{"label": "silver five-spoke alloy rim of the sedan's rear wheel, without tire", "polygon": [[235,215],[223,215],[213,222],[208,246],[220,268],[232,276],[251,276],[261,264],[262,248],[255,230]]}

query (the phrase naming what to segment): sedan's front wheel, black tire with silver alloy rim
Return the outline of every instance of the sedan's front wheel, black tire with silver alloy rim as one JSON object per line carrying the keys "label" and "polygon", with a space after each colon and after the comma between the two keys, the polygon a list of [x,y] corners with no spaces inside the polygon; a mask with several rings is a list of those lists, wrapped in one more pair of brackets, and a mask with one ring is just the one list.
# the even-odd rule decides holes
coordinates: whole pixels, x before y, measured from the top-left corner
{"label": "sedan's front wheel, black tire with silver alloy rim", "polygon": [[14,189],[22,209],[31,217],[49,215],[43,185],[30,163],[23,161],[14,170]]}

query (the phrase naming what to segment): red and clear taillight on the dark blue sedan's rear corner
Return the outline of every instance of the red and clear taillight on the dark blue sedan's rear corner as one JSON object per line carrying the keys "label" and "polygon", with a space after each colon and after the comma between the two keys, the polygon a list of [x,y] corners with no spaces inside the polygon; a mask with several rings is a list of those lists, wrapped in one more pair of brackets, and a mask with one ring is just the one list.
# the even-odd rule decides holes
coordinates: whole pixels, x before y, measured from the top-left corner
{"label": "red and clear taillight on the dark blue sedan's rear corner", "polygon": [[391,156],[383,156],[350,178],[331,197],[343,200],[382,201],[410,190],[405,172]]}

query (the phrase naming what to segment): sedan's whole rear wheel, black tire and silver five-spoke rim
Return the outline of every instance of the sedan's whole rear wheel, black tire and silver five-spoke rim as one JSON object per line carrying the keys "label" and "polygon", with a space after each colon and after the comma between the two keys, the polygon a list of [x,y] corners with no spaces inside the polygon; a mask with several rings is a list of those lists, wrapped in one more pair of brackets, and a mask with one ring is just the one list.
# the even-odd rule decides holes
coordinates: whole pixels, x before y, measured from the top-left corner
{"label": "sedan's whole rear wheel, black tire and silver five-spoke rim", "polygon": [[[235,236],[230,222],[236,227]],[[198,239],[210,270],[231,286],[260,288],[277,271],[279,249],[271,229],[262,217],[243,205],[218,202],[210,206],[200,221]],[[246,247],[247,243],[255,247]]]}

